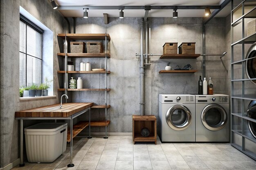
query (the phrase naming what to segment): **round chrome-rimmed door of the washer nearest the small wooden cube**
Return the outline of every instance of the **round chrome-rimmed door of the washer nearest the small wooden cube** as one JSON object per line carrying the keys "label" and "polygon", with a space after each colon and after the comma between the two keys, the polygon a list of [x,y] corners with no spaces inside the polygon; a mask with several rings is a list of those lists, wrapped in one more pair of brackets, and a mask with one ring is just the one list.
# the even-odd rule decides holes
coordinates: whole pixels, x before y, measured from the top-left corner
{"label": "round chrome-rimmed door of the washer nearest the small wooden cube", "polygon": [[166,122],[173,130],[184,130],[191,124],[192,115],[186,106],[177,104],[167,110]]}

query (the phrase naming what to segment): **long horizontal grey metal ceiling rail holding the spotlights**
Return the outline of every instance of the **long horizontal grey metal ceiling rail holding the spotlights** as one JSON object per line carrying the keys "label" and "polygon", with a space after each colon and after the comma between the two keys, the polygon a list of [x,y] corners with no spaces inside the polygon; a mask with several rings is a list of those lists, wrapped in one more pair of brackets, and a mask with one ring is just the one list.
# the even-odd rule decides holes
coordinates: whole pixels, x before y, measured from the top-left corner
{"label": "long horizontal grey metal ceiling rail holding the spotlights", "polygon": [[58,6],[58,10],[78,10],[78,9],[144,9],[144,10],[151,10],[151,9],[220,9],[220,5],[173,5],[173,6]]}

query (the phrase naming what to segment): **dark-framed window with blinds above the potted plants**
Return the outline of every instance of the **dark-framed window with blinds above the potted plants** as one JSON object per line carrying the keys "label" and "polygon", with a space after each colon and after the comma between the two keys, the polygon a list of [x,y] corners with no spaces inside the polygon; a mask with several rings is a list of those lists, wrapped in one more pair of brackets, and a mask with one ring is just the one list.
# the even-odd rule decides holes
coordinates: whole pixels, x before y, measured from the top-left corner
{"label": "dark-framed window with blinds above the potted plants", "polygon": [[20,86],[42,83],[42,34],[20,15]]}

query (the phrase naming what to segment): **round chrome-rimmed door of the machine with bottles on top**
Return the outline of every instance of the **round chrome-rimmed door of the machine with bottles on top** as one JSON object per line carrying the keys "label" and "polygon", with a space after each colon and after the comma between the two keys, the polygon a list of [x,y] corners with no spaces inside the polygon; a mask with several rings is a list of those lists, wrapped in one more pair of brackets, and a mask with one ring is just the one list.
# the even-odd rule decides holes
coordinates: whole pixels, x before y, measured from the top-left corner
{"label": "round chrome-rimmed door of the machine with bottles on top", "polygon": [[227,112],[218,104],[209,104],[204,108],[201,114],[202,124],[211,131],[217,131],[227,123]]}

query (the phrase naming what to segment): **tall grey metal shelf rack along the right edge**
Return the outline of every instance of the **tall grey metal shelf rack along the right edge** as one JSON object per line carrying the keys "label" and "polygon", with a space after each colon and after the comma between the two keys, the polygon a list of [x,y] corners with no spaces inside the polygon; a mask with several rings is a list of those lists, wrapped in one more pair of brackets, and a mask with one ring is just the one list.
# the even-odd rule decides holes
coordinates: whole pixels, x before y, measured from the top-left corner
{"label": "tall grey metal shelf rack along the right edge", "polygon": [[[245,37],[245,18],[256,18],[256,15],[252,15],[254,14],[254,11],[256,10],[256,8],[252,8],[250,11],[248,11],[247,13],[245,13],[245,3],[248,2],[247,0],[241,0],[241,3],[239,3],[236,7],[234,7],[234,0],[231,0],[231,98],[232,99],[241,99],[241,108],[240,110],[242,110],[244,112],[245,110],[245,101],[246,100],[256,100],[255,97],[253,97],[253,95],[248,95],[245,94],[245,81],[249,81],[249,80],[255,80],[255,78],[251,78],[248,79],[247,77],[245,77],[245,64],[246,61],[248,59],[245,59],[245,44],[252,44],[254,42],[256,42],[256,33],[249,35],[247,37]],[[233,15],[234,13],[238,10],[238,9],[242,9],[242,15],[240,16],[240,18],[238,18],[237,20],[234,21]],[[242,22],[242,38],[236,42],[234,42],[234,27],[236,26],[237,22]],[[242,45],[242,49],[241,49],[241,58],[238,61],[234,61],[234,46],[236,44],[241,44]],[[234,79],[234,66],[236,64],[241,64],[242,67],[240,69],[241,70],[241,78],[240,79]],[[234,82],[242,82],[242,86],[241,86],[241,94],[235,95],[234,94]],[[255,95],[256,96],[256,95]],[[256,122],[256,120],[251,119],[246,117],[245,113],[242,113],[241,115],[235,114],[235,110],[233,110],[233,105],[234,104],[234,100],[231,100],[231,146],[233,146],[234,148],[240,150],[241,152],[243,152],[245,155],[251,157],[252,159],[256,160],[256,153],[252,154],[252,152],[246,150],[246,144],[245,144],[245,140],[249,140],[251,142],[254,143],[254,147],[256,147],[256,139],[251,139],[250,137],[247,136],[248,132],[246,133],[246,127],[247,125],[247,121],[253,121]],[[239,117],[239,119],[241,120],[236,122],[236,119]],[[237,132],[236,130],[234,130],[234,125],[238,125],[241,126],[241,133]],[[235,135],[236,134],[236,135]],[[236,140],[234,139],[234,135],[237,137],[239,137],[239,140],[241,141],[242,145],[240,146],[240,144],[236,143]]]}

